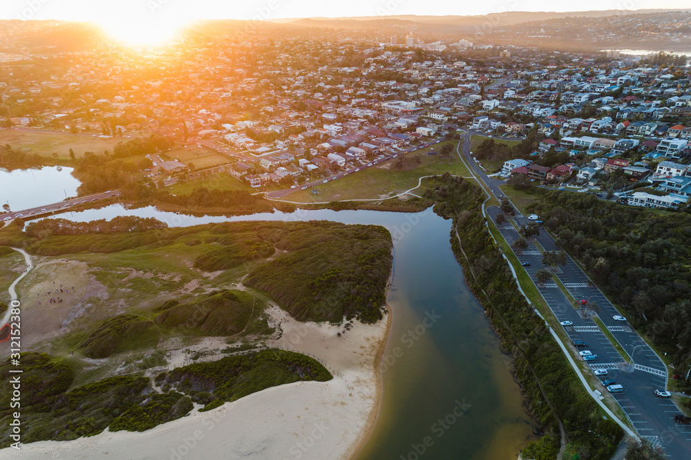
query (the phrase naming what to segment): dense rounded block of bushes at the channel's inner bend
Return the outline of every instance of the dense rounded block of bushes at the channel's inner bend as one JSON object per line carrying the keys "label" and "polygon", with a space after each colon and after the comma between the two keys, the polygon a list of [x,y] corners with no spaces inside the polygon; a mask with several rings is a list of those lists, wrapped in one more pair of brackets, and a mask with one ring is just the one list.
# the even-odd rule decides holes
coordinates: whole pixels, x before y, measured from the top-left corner
{"label": "dense rounded block of bushes at the channel's inner bend", "polygon": [[[265,229],[274,230],[270,224]],[[276,227],[281,229],[281,227]],[[265,291],[298,320],[382,318],[391,267],[391,237],[384,227],[314,222],[275,240],[288,251],[256,267],[245,284]]]}

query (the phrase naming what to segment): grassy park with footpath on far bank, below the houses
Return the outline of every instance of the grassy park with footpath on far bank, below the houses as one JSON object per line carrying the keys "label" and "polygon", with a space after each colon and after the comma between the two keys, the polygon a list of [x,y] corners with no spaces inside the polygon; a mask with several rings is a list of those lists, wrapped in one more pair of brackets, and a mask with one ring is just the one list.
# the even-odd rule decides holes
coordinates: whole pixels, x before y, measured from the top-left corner
{"label": "grassy park with footpath on far bank, below the houses", "polygon": [[[334,182],[314,186],[313,189],[309,190],[295,191],[284,199],[295,202],[328,202],[386,198],[417,186],[419,178],[424,175],[441,175],[448,172],[453,175],[469,176],[468,169],[462,164],[455,152],[457,141],[440,142],[435,144],[433,148],[438,152],[445,143],[453,146],[451,158],[426,155],[430,147],[422,148],[399,156],[408,163],[406,169],[396,169],[395,164],[397,164],[398,158],[393,158]],[[413,165],[415,158],[419,158],[420,163],[411,167],[410,165]],[[416,192],[413,191],[413,193]]]}

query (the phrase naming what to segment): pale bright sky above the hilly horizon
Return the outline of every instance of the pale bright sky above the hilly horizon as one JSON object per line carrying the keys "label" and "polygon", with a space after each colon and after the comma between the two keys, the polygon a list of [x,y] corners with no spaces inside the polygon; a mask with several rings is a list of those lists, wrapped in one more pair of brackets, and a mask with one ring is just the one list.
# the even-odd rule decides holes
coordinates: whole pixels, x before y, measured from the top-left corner
{"label": "pale bright sky above the hilly horizon", "polygon": [[505,11],[690,8],[689,0],[0,0],[0,19],[98,23],[115,37],[165,39],[195,19],[484,15]]}

